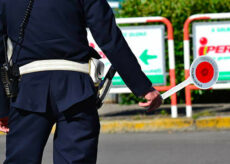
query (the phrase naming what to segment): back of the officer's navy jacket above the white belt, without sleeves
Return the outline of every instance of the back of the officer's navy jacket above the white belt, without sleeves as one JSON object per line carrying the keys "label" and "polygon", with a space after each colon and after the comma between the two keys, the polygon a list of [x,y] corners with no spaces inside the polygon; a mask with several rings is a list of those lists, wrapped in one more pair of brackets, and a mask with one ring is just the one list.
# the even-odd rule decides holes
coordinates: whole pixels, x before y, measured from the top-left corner
{"label": "back of the officer's navy jacket above the white belt, without sleeves", "polygon": [[[27,0],[2,0],[6,5],[6,24],[15,43]],[[83,0],[35,0],[25,32],[19,65],[41,59],[69,59],[87,62],[91,48],[86,39]]]}

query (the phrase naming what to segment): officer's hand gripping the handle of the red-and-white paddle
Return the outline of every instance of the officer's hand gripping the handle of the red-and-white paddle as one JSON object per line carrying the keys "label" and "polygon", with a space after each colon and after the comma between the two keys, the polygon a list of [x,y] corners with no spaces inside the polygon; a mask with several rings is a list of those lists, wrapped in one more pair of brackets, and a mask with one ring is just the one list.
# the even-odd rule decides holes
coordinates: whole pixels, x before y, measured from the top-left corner
{"label": "officer's hand gripping the handle of the red-and-white paddle", "polygon": [[144,98],[147,100],[147,102],[139,103],[139,106],[141,107],[148,107],[147,112],[153,111],[157,109],[162,104],[162,98],[160,93],[157,90],[151,91],[147,93]]}

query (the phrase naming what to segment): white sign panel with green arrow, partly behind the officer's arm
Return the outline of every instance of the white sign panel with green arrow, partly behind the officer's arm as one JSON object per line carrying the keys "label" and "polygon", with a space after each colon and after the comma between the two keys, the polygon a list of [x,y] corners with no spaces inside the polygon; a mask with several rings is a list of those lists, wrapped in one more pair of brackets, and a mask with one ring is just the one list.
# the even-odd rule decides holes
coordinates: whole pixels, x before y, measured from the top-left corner
{"label": "white sign panel with green arrow, partly behind the officer's arm", "polygon": [[[121,27],[120,29],[143,72],[148,76],[153,85],[165,85],[164,26],[129,26]],[[95,43],[90,32],[88,32],[88,40],[89,44],[103,56],[102,61],[108,70],[111,64],[106,58],[106,54],[103,54],[102,50]],[[118,74],[114,76],[112,84],[113,87],[125,86],[125,83]]]}

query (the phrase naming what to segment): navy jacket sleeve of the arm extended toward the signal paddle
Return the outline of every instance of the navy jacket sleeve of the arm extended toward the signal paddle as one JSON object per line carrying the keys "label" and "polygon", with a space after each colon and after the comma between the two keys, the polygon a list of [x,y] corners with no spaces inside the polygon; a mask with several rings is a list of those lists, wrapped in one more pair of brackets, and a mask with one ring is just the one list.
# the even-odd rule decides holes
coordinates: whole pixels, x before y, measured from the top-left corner
{"label": "navy jacket sleeve of the arm extended toward the signal paddle", "polygon": [[95,41],[136,96],[143,96],[152,83],[142,72],[133,52],[116,25],[112,9],[106,0],[84,0],[86,24]]}

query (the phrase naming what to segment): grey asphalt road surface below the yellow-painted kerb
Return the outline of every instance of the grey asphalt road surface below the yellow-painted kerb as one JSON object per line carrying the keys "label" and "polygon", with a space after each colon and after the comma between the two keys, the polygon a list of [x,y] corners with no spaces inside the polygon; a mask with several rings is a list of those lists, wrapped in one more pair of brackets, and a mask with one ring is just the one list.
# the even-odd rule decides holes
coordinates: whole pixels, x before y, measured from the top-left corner
{"label": "grey asphalt road surface below the yellow-painted kerb", "polygon": [[[0,136],[0,163],[5,137]],[[230,131],[102,134],[98,164],[229,164]],[[43,164],[52,164],[52,136]]]}

